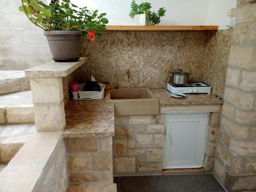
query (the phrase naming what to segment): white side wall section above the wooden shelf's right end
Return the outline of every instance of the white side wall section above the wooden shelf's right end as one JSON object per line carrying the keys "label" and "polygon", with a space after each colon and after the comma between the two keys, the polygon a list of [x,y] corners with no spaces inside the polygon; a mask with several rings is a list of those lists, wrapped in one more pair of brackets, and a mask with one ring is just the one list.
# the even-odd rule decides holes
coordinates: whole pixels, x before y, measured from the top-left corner
{"label": "white side wall section above the wooden shelf's right end", "polygon": [[208,8],[207,25],[218,25],[219,29],[227,29],[229,17],[226,12],[237,7],[237,0],[210,0]]}

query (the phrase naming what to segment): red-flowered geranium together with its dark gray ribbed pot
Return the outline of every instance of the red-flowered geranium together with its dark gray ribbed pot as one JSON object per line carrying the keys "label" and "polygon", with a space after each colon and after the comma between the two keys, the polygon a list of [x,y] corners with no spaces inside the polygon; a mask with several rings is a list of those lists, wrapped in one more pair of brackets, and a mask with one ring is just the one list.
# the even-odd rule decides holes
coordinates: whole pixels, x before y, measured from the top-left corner
{"label": "red-flowered geranium together with its dark gray ribbed pot", "polygon": [[77,61],[81,35],[94,42],[109,23],[104,17],[106,13],[78,8],[70,0],[52,0],[49,5],[39,0],[22,0],[19,10],[45,31],[55,61]]}

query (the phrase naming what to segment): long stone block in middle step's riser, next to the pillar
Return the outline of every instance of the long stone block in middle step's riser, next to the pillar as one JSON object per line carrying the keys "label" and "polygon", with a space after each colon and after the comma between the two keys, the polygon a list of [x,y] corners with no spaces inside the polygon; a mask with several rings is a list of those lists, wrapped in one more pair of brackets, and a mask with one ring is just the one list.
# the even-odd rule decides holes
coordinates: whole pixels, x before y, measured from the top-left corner
{"label": "long stone block in middle step's riser, next to the pillar", "polygon": [[35,122],[33,104],[17,104],[7,106],[6,121],[8,123]]}

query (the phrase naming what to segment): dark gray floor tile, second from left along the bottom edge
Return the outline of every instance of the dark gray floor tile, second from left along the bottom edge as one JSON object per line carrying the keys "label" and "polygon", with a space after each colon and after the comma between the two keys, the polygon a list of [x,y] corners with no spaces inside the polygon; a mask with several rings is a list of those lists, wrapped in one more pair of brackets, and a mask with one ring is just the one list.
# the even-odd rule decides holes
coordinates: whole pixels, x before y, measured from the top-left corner
{"label": "dark gray floor tile, second from left along the bottom edge", "polygon": [[168,176],[144,176],[148,192],[173,192]]}

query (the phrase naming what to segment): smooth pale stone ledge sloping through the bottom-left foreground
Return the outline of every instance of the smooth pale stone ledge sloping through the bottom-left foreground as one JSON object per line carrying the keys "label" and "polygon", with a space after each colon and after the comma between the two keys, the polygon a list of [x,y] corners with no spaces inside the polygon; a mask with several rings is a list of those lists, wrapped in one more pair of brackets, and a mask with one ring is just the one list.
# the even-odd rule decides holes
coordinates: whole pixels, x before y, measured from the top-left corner
{"label": "smooth pale stone ledge sloping through the bottom-left foreground", "polygon": [[35,133],[0,173],[0,191],[36,190],[60,141],[62,132]]}

